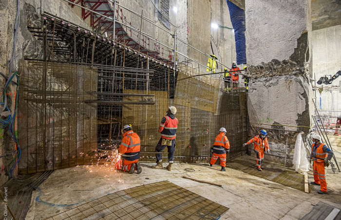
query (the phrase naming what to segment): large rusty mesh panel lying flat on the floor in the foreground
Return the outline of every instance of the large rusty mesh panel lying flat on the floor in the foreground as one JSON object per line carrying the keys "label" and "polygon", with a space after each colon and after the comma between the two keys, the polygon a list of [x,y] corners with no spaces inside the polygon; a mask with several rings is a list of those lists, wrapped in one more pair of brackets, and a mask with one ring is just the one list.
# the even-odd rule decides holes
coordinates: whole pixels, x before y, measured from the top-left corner
{"label": "large rusty mesh panel lying flat on the floor in the foreground", "polygon": [[87,202],[55,219],[204,220],[229,208],[168,181],[141,185]]}

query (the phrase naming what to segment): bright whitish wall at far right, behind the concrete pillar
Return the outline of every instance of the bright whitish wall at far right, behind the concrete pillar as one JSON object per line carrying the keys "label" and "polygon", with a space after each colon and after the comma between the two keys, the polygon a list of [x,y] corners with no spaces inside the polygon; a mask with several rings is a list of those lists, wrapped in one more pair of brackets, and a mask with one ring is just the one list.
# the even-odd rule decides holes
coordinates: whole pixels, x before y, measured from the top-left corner
{"label": "bright whitish wall at far right, behind the concrete pillar", "polygon": [[[341,70],[341,25],[323,28],[312,32],[313,73],[316,80],[324,75],[334,75]],[[330,76],[329,76],[330,77]],[[341,77],[335,79],[331,85],[318,85],[322,88],[321,110],[320,92],[317,92],[317,106],[321,116],[331,123],[336,122],[336,117],[341,117]]]}

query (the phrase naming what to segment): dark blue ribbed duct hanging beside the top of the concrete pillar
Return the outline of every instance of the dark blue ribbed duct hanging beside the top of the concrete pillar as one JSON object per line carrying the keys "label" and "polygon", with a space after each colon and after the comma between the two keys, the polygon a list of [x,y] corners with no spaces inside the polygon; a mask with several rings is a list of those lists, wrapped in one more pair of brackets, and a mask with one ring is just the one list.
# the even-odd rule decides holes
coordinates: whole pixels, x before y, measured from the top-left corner
{"label": "dark blue ribbed duct hanging beside the top of the concrete pillar", "polygon": [[237,64],[246,64],[246,44],[245,44],[245,11],[237,7],[232,2],[227,1],[230,18],[234,29],[234,39],[236,41]]}

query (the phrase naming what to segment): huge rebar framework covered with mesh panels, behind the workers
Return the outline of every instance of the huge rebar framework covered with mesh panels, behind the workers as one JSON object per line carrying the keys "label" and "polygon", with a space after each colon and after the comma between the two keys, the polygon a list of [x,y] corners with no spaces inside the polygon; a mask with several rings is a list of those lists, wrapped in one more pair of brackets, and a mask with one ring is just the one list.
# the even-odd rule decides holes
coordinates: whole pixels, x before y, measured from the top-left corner
{"label": "huge rebar framework covered with mesh panels, behind the workers", "polygon": [[[227,128],[230,157],[246,153],[246,147],[242,147],[246,139],[245,89],[233,94],[222,92],[221,80],[209,75],[196,76],[200,75],[198,69],[184,63],[175,66],[174,60],[150,53],[143,44],[136,50],[127,36],[112,41],[98,34],[99,26],[91,31],[42,12],[41,19],[32,22],[28,29],[41,42],[41,46],[36,44],[41,56],[26,58],[20,64],[21,70],[27,69],[30,80],[33,80],[32,75],[44,83],[43,79],[49,80],[39,88],[31,88],[31,81],[26,81],[23,100],[26,106],[22,117],[29,115],[30,107],[37,109],[43,105],[43,117],[59,115],[56,118],[62,120],[48,120],[48,126],[43,127],[33,124],[32,132],[39,130],[34,143],[28,140],[29,124],[19,123],[19,129],[27,130],[21,136],[26,145],[20,146],[27,155],[21,173],[106,161],[103,154],[109,155],[118,148],[125,124],[132,124],[141,138],[141,160],[154,162],[152,152],[160,138],[157,128],[170,105],[178,109],[176,117],[179,119],[175,161],[207,162],[220,127]],[[49,86],[57,75],[59,83]],[[188,76],[193,77],[187,79]],[[90,77],[91,83],[83,80],[84,83],[77,84],[81,77]],[[38,93],[43,96],[37,98]],[[66,108],[65,103],[70,103],[72,108]],[[80,112],[79,106],[88,110]],[[66,121],[68,123],[64,124]],[[59,127],[60,132],[56,132]],[[67,134],[76,136],[71,140]],[[82,146],[79,143],[88,142],[85,147],[79,147]],[[39,148],[34,148],[37,146]],[[45,152],[51,150],[47,157]],[[36,159],[31,158],[32,154]]]}

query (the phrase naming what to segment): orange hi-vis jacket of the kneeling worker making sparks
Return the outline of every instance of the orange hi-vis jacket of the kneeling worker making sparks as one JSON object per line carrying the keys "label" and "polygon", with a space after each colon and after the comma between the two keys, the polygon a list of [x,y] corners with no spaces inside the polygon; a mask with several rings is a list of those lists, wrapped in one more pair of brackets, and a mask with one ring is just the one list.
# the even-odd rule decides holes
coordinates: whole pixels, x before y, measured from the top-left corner
{"label": "orange hi-vis jacket of the kneeling worker making sparks", "polygon": [[129,130],[123,134],[118,150],[124,160],[134,161],[140,158],[140,147],[140,137],[133,130]]}

